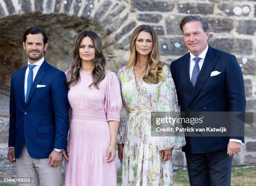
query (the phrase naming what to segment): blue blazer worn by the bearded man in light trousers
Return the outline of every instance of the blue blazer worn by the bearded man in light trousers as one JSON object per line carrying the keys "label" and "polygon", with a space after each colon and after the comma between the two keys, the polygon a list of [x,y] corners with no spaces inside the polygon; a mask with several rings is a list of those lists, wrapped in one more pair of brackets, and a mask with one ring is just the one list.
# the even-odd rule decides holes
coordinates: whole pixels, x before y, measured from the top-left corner
{"label": "blue blazer worn by the bearded man in light trousers", "polygon": [[[46,61],[33,81],[27,103],[24,79],[27,66],[15,71],[10,83],[9,146],[19,158],[25,140],[32,158],[48,158],[56,149],[67,149],[68,99],[64,72]],[[38,87],[37,84],[46,85]]]}

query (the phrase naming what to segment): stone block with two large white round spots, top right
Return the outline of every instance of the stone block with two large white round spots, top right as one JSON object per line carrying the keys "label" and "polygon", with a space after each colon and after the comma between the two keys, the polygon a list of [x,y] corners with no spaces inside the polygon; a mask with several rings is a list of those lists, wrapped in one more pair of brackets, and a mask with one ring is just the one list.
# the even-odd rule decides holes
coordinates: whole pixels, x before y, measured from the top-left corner
{"label": "stone block with two large white round spots, top right", "polygon": [[251,12],[250,5],[234,5],[230,2],[223,2],[218,7],[226,15],[248,16]]}

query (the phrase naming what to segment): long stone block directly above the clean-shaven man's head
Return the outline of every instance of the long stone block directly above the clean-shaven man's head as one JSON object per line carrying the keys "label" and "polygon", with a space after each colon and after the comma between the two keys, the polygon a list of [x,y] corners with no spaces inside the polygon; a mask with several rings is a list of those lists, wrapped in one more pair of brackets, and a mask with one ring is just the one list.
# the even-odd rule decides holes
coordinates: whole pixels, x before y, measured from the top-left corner
{"label": "long stone block directly above the clean-shaven man's head", "polygon": [[178,3],[179,13],[185,14],[212,14],[214,10],[213,3],[194,3],[194,2],[186,2],[186,3]]}

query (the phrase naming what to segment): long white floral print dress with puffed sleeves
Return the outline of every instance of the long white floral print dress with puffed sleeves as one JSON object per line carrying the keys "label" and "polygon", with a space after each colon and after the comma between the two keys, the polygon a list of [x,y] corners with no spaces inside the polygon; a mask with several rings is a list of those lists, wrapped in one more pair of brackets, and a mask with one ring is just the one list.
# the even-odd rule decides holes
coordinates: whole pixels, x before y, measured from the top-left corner
{"label": "long white floral print dress with puffed sleeves", "polygon": [[184,133],[175,136],[151,136],[151,111],[179,112],[175,85],[164,65],[158,84],[141,78],[136,84],[134,69],[118,71],[123,108],[120,112],[118,144],[123,150],[123,186],[172,186],[172,159],[162,162],[161,150],[179,149],[186,144]]}

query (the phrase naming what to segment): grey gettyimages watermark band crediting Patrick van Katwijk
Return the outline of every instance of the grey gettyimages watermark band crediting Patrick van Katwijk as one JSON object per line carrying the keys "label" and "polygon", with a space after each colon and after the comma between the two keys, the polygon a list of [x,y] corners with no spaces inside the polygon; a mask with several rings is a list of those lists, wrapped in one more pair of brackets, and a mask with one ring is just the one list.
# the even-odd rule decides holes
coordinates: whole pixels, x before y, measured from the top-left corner
{"label": "grey gettyimages watermark band crediting Patrick van Katwijk", "polygon": [[151,136],[256,136],[256,112],[151,112]]}

